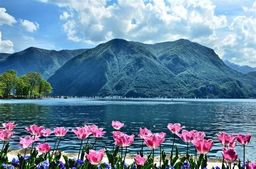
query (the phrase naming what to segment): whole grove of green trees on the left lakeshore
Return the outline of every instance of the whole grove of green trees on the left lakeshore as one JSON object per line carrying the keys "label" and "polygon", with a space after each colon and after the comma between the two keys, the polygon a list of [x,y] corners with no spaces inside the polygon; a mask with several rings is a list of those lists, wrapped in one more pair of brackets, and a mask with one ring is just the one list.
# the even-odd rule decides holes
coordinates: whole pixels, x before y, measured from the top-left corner
{"label": "whole grove of green trees on the left lakeshore", "polygon": [[18,77],[17,71],[9,69],[0,74],[0,97],[38,98],[50,93],[50,83],[43,80],[41,74],[37,72],[29,72]]}

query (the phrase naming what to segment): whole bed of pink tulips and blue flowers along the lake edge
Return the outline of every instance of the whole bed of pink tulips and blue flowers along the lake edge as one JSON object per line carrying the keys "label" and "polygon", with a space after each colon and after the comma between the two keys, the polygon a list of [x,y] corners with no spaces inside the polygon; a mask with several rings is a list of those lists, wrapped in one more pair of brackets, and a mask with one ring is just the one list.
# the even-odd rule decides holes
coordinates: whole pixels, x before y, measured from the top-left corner
{"label": "whole bed of pink tulips and blue flowers along the lake edge", "polygon": [[[80,149],[77,158],[69,158],[63,156],[64,161],[60,160],[62,156],[58,151],[60,140],[69,131],[64,127],[55,128],[54,134],[56,142],[53,147],[47,143],[47,138],[51,135],[50,129],[44,129],[43,126],[31,125],[30,128],[25,128],[31,136],[19,138],[19,145],[25,150],[24,154],[17,154],[17,157],[8,161],[8,140],[15,134],[12,131],[15,128],[14,123],[3,123],[4,129],[0,129],[0,139],[3,140],[3,147],[0,154],[1,168],[207,168],[207,153],[212,149],[213,142],[211,139],[204,139],[206,136],[203,131],[187,131],[184,126],[179,123],[167,125],[167,128],[173,133],[173,142],[171,147],[171,154],[167,158],[166,153],[161,150],[161,144],[165,142],[166,133],[152,133],[150,130],[144,128],[139,129],[138,137],[142,139],[142,148],[140,152],[134,157],[134,163],[126,164],[127,147],[133,144],[134,135],[126,135],[119,131],[124,124],[118,121],[113,121],[113,147],[112,150],[102,149],[96,150],[97,138],[103,137],[106,133],[102,128],[96,125],[84,125],[77,127],[72,132],[81,140]],[[181,133],[180,133],[180,130]],[[95,143],[90,144],[90,136],[95,137]],[[186,156],[179,156],[178,148],[175,144],[176,137],[184,141],[187,146]],[[38,143],[40,137],[44,137],[44,143]],[[220,132],[217,135],[218,140],[224,145],[223,163],[216,168],[231,168],[237,165],[238,168],[255,169],[256,163],[245,161],[245,147],[250,142],[251,135],[228,135]],[[83,142],[86,144],[83,146]],[[244,146],[244,156],[242,162],[237,161],[238,154],[234,147],[240,143]],[[143,147],[145,145],[152,149],[150,154],[144,154]],[[188,144],[193,144],[195,147],[194,154],[188,154]],[[30,149],[29,149],[30,148]],[[160,161],[157,164],[154,161],[154,153],[156,149],[160,152]],[[102,163],[104,154],[106,154],[108,163]],[[245,164],[245,165],[244,165]]]}

